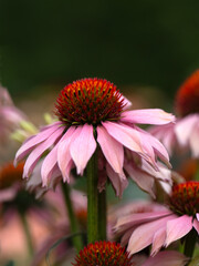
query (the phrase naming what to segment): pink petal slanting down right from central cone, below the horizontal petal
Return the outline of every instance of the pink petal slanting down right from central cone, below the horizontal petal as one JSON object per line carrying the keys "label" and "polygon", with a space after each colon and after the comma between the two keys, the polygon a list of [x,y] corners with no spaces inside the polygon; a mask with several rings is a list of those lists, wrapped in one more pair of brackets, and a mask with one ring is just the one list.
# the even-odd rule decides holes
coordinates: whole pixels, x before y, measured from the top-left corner
{"label": "pink petal slanting down right from central cone, below the horizontal petal", "polygon": [[112,135],[116,141],[128,147],[133,152],[144,153],[140,145],[139,134],[136,130],[125,126],[118,123],[104,122],[103,126],[107,130],[108,134]]}

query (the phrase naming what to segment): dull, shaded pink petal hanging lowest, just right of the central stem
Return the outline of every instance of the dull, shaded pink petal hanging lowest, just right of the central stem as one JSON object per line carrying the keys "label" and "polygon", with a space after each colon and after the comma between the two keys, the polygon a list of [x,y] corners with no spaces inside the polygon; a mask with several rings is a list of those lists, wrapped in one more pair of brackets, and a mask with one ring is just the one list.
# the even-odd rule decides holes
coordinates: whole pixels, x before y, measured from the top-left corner
{"label": "dull, shaded pink petal hanging lowest, just right of the central stem", "polygon": [[113,171],[113,168],[109,166],[108,163],[106,165],[106,172],[113,184],[113,187],[116,191],[116,195],[122,197],[124,190],[128,185],[128,181],[125,178],[125,176],[123,176],[123,178],[121,178],[119,175]]}

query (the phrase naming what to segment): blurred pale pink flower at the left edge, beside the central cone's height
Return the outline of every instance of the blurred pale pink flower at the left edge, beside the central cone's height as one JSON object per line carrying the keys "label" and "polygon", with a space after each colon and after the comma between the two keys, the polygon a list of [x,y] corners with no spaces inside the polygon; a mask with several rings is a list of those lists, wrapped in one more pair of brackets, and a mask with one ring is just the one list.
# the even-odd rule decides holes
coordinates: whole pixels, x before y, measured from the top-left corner
{"label": "blurred pale pink flower at the left edge, beside the central cone's height", "polygon": [[7,89],[0,86],[0,142],[6,141],[24,119],[25,115],[13,105]]}

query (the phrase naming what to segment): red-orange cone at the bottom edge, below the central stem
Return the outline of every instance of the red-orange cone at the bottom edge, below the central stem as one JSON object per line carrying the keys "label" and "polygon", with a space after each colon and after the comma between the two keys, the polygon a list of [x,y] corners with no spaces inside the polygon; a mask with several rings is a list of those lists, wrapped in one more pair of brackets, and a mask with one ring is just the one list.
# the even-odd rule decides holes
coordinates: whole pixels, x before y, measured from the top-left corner
{"label": "red-orange cone at the bottom edge, below the central stem", "polygon": [[82,249],[74,266],[133,266],[128,253],[117,243],[95,242]]}

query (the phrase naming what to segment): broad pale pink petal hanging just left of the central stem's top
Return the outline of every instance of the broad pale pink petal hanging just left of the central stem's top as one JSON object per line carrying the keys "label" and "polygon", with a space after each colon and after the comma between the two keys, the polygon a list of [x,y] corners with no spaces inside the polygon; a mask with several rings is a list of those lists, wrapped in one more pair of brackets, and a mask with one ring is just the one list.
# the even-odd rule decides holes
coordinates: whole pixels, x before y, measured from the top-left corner
{"label": "broad pale pink petal hanging just left of the central stem's top", "polygon": [[96,141],[93,135],[93,125],[84,124],[78,126],[78,135],[73,139],[70,145],[71,156],[76,165],[77,174],[83,175],[83,171],[96,150]]}

